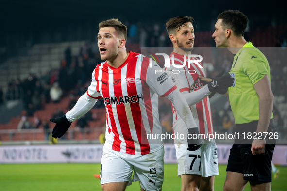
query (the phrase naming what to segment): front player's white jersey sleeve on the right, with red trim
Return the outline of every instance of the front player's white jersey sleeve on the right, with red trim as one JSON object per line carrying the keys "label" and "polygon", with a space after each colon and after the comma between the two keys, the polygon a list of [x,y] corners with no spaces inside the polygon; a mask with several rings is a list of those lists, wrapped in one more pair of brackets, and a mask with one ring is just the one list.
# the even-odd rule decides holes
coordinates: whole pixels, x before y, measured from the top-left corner
{"label": "front player's white jersey sleeve on the right, with red trim", "polygon": [[157,95],[161,97],[167,96],[176,89],[176,85],[157,63],[152,61],[150,67],[147,61],[148,59],[143,59],[143,71],[146,71],[146,74],[142,73],[142,80],[144,80]]}

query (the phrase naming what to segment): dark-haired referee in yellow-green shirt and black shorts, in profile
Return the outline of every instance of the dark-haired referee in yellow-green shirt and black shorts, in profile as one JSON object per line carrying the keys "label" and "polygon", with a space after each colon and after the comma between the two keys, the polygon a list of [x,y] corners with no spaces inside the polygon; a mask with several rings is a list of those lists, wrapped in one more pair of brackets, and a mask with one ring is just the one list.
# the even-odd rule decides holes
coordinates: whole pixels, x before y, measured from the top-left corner
{"label": "dark-haired referee in yellow-green shirt and black shorts, in profile", "polygon": [[[270,67],[262,52],[243,37],[247,16],[228,10],[217,19],[212,35],[216,47],[227,47],[234,54],[230,75],[235,80],[225,95],[229,95],[236,134],[240,133],[230,150],[223,190],[243,191],[249,181],[252,191],[270,191],[276,144],[274,137],[268,139],[275,133]],[[269,134],[264,139],[266,132]],[[248,133],[252,136],[247,137]]]}

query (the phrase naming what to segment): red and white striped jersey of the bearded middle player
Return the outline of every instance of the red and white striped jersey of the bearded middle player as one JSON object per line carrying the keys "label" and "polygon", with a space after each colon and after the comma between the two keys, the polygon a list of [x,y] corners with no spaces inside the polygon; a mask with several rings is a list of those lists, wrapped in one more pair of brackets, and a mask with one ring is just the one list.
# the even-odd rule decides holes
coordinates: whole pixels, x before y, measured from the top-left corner
{"label": "red and white striped jersey of the bearded middle player", "polygon": [[[170,61],[172,55],[174,56],[174,64],[183,65],[184,64],[184,55],[177,54],[172,52],[170,55]],[[192,60],[198,60],[195,57],[192,57]],[[171,62],[170,62],[171,63]],[[199,63],[201,64],[201,63]],[[176,70],[179,70],[178,73]],[[185,72],[183,72],[185,70]],[[191,71],[192,70],[192,71]],[[176,72],[175,72],[176,71]],[[190,71],[190,72],[188,72]],[[166,72],[169,74],[171,80],[176,84],[180,92],[188,91],[193,92],[201,89],[203,87],[203,82],[198,78],[199,75],[206,77],[204,68],[198,67],[195,63],[191,63],[190,67],[187,64],[187,56],[186,56],[186,65],[184,68],[176,68],[170,64],[170,68],[166,68]],[[178,74],[176,74],[178,73]],[[180,118],[175,108],[171,103],[171,108],[173,112],[173,130],[174,133],[182,133],[188,134],[186,129],[186,124]],[[204,97],[203,100],[192,105],[190,107],[192,112],[194,121],[199,127],[199,132],[201,134],[213,134],[213,126],[212,126],[212,116],[210,110],[210,103],[208,96]],[[175,143],[186,143],[185,140],[175,140]]]}

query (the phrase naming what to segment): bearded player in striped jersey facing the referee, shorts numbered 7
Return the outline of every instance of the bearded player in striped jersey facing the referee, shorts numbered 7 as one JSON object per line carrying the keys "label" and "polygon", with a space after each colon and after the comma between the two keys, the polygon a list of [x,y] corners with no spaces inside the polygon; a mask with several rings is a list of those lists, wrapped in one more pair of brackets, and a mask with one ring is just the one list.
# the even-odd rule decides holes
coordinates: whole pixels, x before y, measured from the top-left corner
{"label": "bearded player in striped jersey facing the referee, shorts numbered 7", "polygon": [[[174,47],[170,58],[174,57],[173,62],[177,66],[184,65],[184,62],[187,60],[187,55],[191,54],[191,50],[193,49],[195,36],[192,22],[193,18],[190,16],[177,16],[169,19],[166,23],[169,38]],[[198,60],[197,58],[192,59]],[[208,98],[208,95],[214,91],[211,86],[212,81],[210,81],[208,85],[205,85],[205,83],[199,79],[199,76],[206,77],[206,74],[203,67],[199,67],[195,63],[191,63],[190,67],[186,64],[184,68],[181,69],[180,73],[173,74],[171,71],[176,70],[176,67],[170,64],[170,67],[166,68],[166,72],[186,98],[193,118],[199,127],[199,132],[207,137],[209,134],[213,134]],[[186,72],[183,72],[183,70]],[[229,75],[222,75],[223,73],[218,75],[220,77],[215,78],[215,81],[213,81],[217,84],[217,88],[225,89],[232,86],[232,78]],[[171,107],[173,111],[174,133],[187,134],[187,128],[184,121],[178,116],[177,109],[174,108],[172,104]],[[176,157],[178,159],[178,176],[181,177],[182,180],[181,190],[212,191],[214,176],[218,175],[217,147],[215,141],[212,139],[209,142],[208,139],[205,139],[202,147],[196,151],[190,151],[188,149],[186,140],[175,140],[174,144]]]}

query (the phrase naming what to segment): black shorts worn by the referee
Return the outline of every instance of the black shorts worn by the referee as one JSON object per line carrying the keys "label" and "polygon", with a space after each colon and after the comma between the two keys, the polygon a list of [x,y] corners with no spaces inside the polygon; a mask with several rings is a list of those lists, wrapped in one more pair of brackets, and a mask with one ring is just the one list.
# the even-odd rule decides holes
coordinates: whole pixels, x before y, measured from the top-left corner
{"label": "black shorts worn by the referee", "polygon": [[[240,126],[245,125],[245,127],[254,127],[255,124],[256,122],[251,122],[247,124],[240,124]],[[274,132],[273,129],[274,126],[271,120],[268,131]],[[251,144],[234,144],[230,149],[226,171],[242,173],[244,175],[244,180],[271,182],[271,160],[275,144],[276,140],[266,141],[265,155],[252,155],[250,153]]]}

